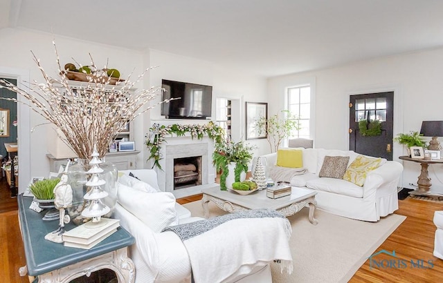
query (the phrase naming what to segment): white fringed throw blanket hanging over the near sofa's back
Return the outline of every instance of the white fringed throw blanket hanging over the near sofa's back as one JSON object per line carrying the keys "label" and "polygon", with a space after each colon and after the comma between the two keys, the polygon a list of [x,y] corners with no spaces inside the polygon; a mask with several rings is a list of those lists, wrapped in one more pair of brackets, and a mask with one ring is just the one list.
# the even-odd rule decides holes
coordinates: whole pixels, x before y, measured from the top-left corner
{"label": "white fringed throw blanket hanging over the near sofa's back", "polygon": [[230,282],[273,260],[280,260],[282,271],[286,268],[291,273],[291,232],[285,217],[239,218],[183,240],[183,244],[196,283]]}

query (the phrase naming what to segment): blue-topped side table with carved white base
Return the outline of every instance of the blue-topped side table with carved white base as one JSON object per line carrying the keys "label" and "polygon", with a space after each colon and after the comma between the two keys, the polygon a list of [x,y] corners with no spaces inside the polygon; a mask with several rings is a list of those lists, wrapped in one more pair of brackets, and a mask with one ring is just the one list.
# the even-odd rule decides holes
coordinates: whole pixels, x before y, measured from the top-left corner
{"label": "blue-topped side table with carved white base", "polygon": [[[55,231],[58,221],[43,221],[43,213],[29,209],[32,197],[19,195],[19,223],[26,255],[26,266],[21,267],[21,276],[28,274],[39,277],[41,282],[70,282],[83,275],[91,275],[100,269],[111,269],[118,282],[134,282],[135,267],[127,257],[127,247],[135,240],[123,227],[119,227],[105,240],[91,248],[69,248],[63,244],[44,240],[44,236]],[[66,231],[74,228],[66,224]]]}

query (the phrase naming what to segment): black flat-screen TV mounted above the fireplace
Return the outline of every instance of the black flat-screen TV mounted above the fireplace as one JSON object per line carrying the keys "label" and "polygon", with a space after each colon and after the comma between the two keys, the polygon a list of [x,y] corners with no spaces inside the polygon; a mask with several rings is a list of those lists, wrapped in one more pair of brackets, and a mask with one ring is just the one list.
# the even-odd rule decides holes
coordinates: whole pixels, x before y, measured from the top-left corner
{"label": "black flat-screen TV mounted above the fireplace", "polygon": [[213,87],[181,81],[161,80],[162,101],[171,98],[169,103],[161,104],[161,115],[166,119],[206,119],[211,116]]}

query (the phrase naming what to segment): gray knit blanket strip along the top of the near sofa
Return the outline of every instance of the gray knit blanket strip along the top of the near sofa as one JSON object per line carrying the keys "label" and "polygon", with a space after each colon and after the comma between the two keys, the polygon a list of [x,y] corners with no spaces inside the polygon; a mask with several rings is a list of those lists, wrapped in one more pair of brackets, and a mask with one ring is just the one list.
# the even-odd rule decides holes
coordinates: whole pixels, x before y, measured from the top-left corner
{"label": "gray knit blanket strip along the top of the near sofa", "polygon": [[214,217],[211,219],[203,219],[196,222],[169,226],[163,231],[172,231],[176,233],[182,241],[188,240],[197,235],[203,234],[211,229],[224,224],[233,219],[240,218],[264,218],[264,217],[281,217],[285,218],[283,215],[269,208],[253,209],[249,211],[241,211],[238,213],[229,213],[226,215],[221,215],[219,217]]}

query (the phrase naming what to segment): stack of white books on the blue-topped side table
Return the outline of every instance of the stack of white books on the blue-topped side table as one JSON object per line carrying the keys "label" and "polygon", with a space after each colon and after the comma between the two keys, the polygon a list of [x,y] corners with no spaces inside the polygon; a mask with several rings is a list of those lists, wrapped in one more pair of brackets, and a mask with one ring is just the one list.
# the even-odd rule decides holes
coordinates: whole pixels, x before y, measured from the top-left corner
{"label": "stack of white books on the blue-topped side table", "polygon": [[119,219],[102,218],[98,224],[85,223],[62,235],[64,246],[90,249],[117,231]]}

